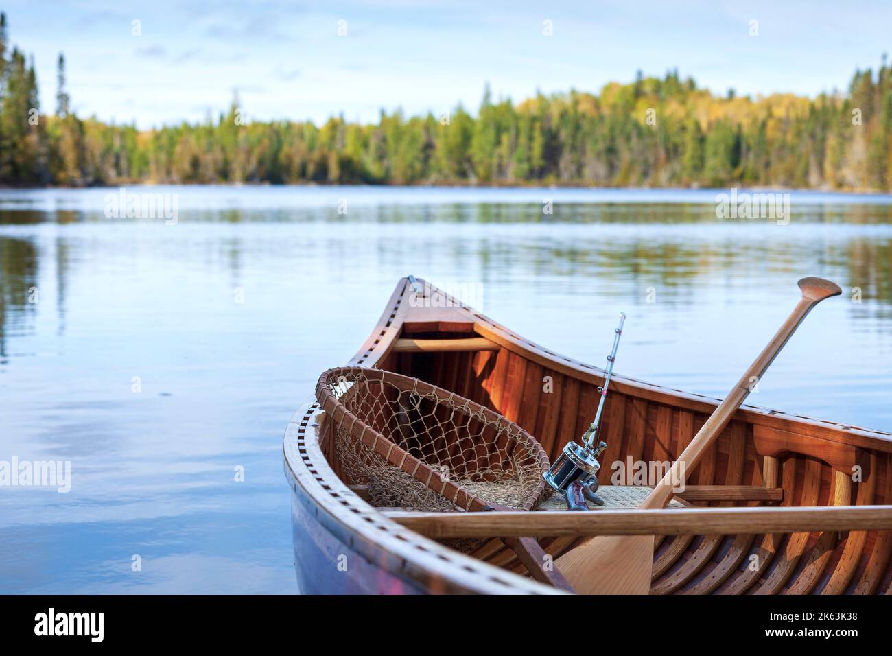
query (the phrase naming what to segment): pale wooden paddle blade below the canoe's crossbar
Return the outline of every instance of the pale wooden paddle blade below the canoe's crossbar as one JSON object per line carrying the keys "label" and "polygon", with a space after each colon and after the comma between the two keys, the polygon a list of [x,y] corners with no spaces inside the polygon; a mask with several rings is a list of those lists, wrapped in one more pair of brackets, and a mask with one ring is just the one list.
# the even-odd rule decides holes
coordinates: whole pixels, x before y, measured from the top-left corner
{"label": "pale wooden paddle blade below the canoe's crossbar", "polygon": [[599,536],[555,563],[577,594],[649,594],[654,536]]}

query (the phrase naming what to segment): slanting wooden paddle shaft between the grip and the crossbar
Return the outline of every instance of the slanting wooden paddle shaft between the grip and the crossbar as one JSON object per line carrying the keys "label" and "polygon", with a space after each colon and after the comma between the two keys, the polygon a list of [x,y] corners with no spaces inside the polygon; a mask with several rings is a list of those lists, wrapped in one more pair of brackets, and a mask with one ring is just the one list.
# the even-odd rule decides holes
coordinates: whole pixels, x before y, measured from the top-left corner
{"label": "slanting wooden paddle shaft between the grip and the crossbar", "polygon": [[706,453],[706,450],[713,443],[714,437],[722,433],[723,428],[731,421],[731,417],[738,411],[740,405],[747,400],[747,396],[749,396],[752,388],[771,366],[772,361],[780,353],[780,350],[787,344],[790,336],[793,335],[799,324],[808,315],[808,312],[820,301],[821,299],[815,300],[805,296],[800,299],[796,308],[790,313],[777,334],[772,338],[772,341],[765,346],[762,353],[759,353],[756,361],[750,365],[747,372],[737,382],[737,385],[731,389],[731,393],[725,396],[724,401],[715,409],[712,417],[706,419],[703,428],[698,430],[697,436],[681,452],[678,460],[673,462],[673,466],[666,472],[662,480],[657,483],[653,492],[648,494],[648,498],[641,502],[639,506],[641,510],[664,508],[666,503],[672,499],[673,489],[679,482],[683,482],[686,473],[690,469],[694,469],[697,466],[700,458],[703,457],[703,454]]}

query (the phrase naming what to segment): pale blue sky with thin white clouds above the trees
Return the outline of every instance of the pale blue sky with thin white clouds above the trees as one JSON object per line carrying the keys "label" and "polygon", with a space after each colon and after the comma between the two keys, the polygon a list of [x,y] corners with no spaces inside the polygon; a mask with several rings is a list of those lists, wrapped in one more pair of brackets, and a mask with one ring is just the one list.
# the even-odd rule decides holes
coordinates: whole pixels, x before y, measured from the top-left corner
{"label": "pale blue sky with thin white clouds above the trees", "polygon": [[719,93],[816,95],[892,50],[892,4],[881,2],[0,0],[0,10],[12,43],[36,58],[43,111],[54,109],[63,51],[78,114],[141,128],[216,116],[234,89],[249,119],[369,121],[380,108],[473,110],[487,81],[518,101],[675,67]]}

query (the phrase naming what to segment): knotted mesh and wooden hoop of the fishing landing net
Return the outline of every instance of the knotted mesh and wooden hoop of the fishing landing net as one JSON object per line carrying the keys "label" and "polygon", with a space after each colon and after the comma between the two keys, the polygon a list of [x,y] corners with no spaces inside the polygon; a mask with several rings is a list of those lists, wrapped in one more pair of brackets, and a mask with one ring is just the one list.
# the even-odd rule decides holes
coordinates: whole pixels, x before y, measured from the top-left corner
{"label": "knotted mesh and wooden hoop of the fishing landing net", "polygon": [[549,468],[541,445],[478,403],[389,371],[342,367],[319,378],[335,454],[373,505],[420,511],[529,511]]}

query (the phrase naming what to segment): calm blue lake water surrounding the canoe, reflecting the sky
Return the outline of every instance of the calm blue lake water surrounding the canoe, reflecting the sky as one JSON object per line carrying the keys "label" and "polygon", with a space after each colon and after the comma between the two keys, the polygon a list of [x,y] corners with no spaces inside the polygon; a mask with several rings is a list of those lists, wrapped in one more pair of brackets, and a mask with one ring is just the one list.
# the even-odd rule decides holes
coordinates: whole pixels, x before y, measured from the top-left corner
{"label": "calm blue lake water surrounding the canoe, reflecting the sky", "polygon": [[0,190],[0,461],[71,463],[67,494],[0,486],[2,593],[299,592],[285,425],[409,273],[597,365],[625,311],[618,372],[717,396],[830,278],[750,402],[892,429],[888,195],[793,193],[778,225],[715,191],[141,192],[177,222]]}

